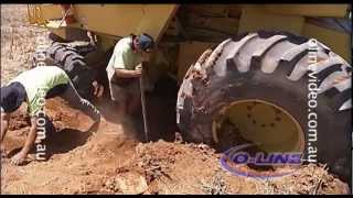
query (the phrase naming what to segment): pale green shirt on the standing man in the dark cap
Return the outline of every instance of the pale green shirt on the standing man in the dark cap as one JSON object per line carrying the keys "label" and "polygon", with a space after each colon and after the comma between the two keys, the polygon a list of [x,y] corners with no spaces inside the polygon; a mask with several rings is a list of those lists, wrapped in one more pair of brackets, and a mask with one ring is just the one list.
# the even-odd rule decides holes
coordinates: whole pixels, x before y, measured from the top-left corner
{"label": "pale green shirt on the standing man in the dark cap", "polygon": [[115,74],[115,69],[133,70],[135,67],[142,62],[141,53],[132,50],[132,36],[124,37],[114,47],[114,53],[107,66],[109,80]]}

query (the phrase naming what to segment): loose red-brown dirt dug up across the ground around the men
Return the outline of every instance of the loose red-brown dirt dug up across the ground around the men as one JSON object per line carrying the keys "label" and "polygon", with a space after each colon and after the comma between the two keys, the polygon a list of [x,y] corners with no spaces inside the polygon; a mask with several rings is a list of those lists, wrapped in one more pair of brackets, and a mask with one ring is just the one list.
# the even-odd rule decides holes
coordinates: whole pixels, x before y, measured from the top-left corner
{"label": "loose red-brown dirt dug up across the ground around the men", "polygon": [[[13,118],[25,118],[23,110]],[[131,134],[128,128],[106,119],[96,133],[90,133],[87,129],[92,120],[61,99],[49,100],[46,112],[56,128],[47,145],[50,158],[32,160],[24,166],[12,166],[9,158],[3,160],[2,194],[347,193],[347,185],[315,165],[303,166],[278,179],[245,178],[223,170],[220,154],[204,144],[162,140],[139,143],[128,135]],[[23,125],[19,130],[28,128]],[[19,130],[9,131],[6,138],[10,152],[23,144],[24,135],[13,133]]]}

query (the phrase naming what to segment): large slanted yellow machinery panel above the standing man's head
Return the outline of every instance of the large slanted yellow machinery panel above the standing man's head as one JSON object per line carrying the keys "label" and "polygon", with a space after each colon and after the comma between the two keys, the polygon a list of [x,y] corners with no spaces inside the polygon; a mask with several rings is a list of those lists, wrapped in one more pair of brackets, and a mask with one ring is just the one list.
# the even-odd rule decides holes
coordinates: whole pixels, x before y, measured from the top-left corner
{"label": "large slanted yellow machinery panel above the standing man's head", "polygon": [[148,33],[159,37],[175,4],[75,4],[75,15],[84,29],[115,36]]}

